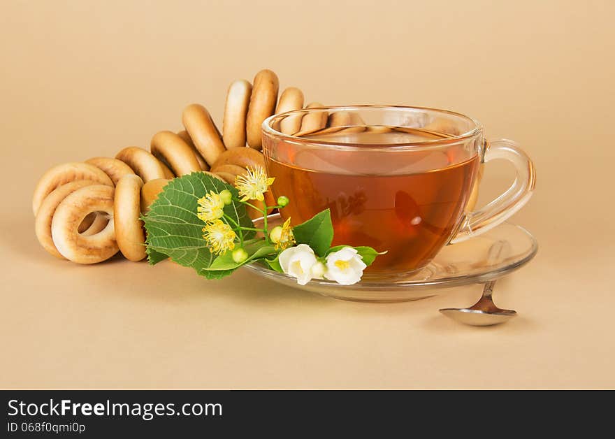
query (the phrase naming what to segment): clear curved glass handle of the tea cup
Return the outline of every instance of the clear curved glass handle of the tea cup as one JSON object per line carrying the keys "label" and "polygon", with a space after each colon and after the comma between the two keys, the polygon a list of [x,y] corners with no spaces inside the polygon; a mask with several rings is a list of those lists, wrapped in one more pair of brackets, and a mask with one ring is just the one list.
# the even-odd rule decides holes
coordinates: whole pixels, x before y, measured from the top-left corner
{"label": "clear curved glass handle of the tea cup", "polygon": [[486,142],[483,157],[485,163],[495,159],[511,161],[516,169],[516,178],[506,192],[484,208],[465,214],[459,231],[450,241],[451,244],[461,243],[502,224],[521,209],[532,196],[536,180],[534,164],[528,154],[516,143],[508,139]]}

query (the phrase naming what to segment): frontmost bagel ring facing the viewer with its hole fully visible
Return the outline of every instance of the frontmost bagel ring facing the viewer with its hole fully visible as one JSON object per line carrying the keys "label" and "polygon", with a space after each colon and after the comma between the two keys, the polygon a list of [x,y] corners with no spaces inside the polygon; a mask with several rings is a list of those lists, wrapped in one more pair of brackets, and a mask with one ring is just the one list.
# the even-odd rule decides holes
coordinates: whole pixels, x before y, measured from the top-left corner
{"label": "frontmost bagel ring facing the viewer with its hole fully visible", "polygon": [[58,252],[78,264],[96,264],[112,257],[117,250],[115,226],[107,226],[92,236],[78,233],[79,224],[91,212],[104,212],[113,217],[115,189],[91,185],[77,189],[59,203],[51,222],[51,235]]}

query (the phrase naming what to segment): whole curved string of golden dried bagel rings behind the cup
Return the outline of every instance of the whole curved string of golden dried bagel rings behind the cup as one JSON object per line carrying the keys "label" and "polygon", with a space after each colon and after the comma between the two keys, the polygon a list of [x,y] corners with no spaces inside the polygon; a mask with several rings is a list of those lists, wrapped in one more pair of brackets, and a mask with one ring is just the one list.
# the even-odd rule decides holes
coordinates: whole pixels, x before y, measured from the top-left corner
{"label": "whole curved string of golden dried bagel rings behind the cup", "polygon": [[[208,110],[193,103],[182,113],[184,130],[160,131],[149,151],[130,146],[115,158],[94,157],[51,168],[32,199],[38,241],[53,256],[78,264],[96,264],[118,251],[130,261],[144,259],[145,231],[139,217],[170,179],[203,172],[233,184],[247,167],[264,166],[263,120],[303,108],[301,90],[289,87],[278,101],[278,88],[277,75],[270,70],[259,71],[253,84],[232,82],[222,134]],[[284,120],[296,127],[282,129],[303,131],[303,124],[310,123],[305,119]]]}

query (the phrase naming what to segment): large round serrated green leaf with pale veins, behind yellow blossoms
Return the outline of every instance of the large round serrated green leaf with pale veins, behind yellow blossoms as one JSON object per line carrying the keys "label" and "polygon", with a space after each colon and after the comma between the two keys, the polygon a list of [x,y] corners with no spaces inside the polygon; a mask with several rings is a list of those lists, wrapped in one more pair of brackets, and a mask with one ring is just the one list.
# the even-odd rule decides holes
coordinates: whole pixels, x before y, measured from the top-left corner
{"label": "large round serrated green leaf with pale veins, behind yellow blossoms", "polygon": [[[202,172],[194,172],[168,182],[158,199],[150,206],[150,212],[142,219],[147,231],[147,255],[150,264],[157,264],[164,257],[182,266],[192,267],[207,278],[220,278],[230,274],[217,271],[210,274],[208,268],[215,255],[203,239],[205,224],[196,216],[198,199],[210,191],[228,189],[233,198],[238,198],[237,189]],[[224,207],[224,213],[245,227],[254,227],[247,216],[245,205],[233,201]],[[244,238],[251,239],[254,231],[245,231]]]}

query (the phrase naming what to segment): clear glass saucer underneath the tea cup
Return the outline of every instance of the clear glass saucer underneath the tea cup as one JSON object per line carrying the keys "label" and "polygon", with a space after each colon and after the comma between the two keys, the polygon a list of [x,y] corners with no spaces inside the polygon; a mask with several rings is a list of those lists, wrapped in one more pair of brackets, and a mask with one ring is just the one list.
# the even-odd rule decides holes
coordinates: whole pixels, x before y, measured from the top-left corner
{"label": "clear glass saucer underneath the tea cup", "polygon": [[[269,215],[270,224],[281,224],[280,215]],[[262,219],[254,222],[261,226]],[[362,302],[414,301],[440,294],[441,290],[460,285],[489,282],[512,273],[536,254],[538,243],[530,232],[515,224],[504,223],[461,243],[440,250],[431,263],[405,277],[363,278],[355,285],[339,285],[328,280],[297,280],[277,273],[259,262],[247,264],[249,270],[282,285],[309,292]]]}

